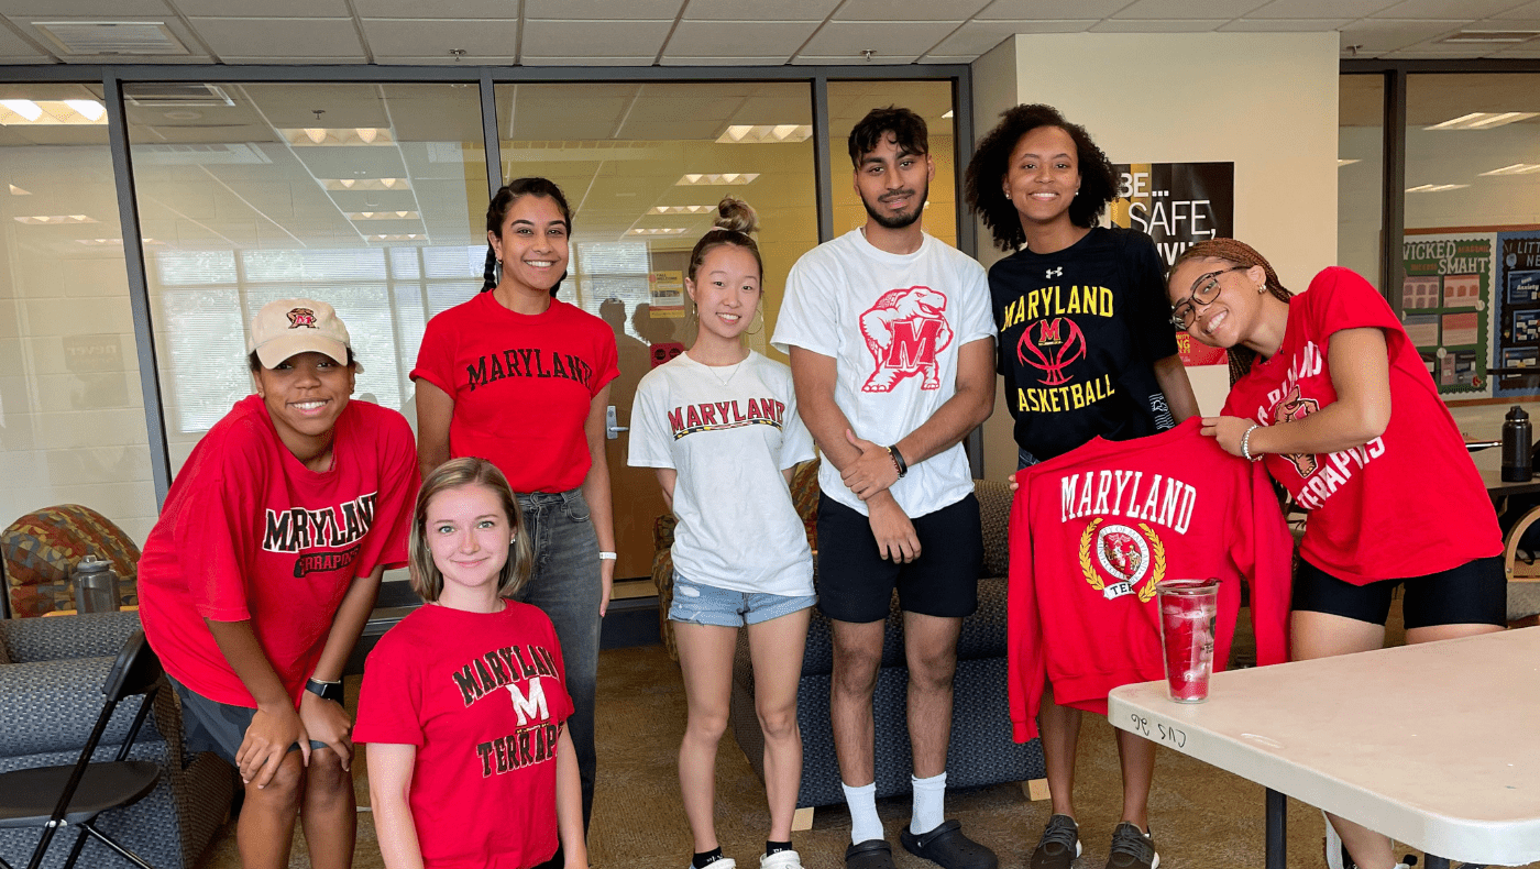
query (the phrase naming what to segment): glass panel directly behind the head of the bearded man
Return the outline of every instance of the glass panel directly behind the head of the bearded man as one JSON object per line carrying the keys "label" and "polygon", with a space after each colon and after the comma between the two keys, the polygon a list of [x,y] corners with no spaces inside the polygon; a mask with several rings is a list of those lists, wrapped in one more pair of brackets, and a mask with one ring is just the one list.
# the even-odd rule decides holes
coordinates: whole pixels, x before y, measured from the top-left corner
{"label": "glass panel directly behind the head of the bearded man", "polygon": [[829,177],[835,194],[835,234],[867,220],[850,177],[850,129],[875,108],[899,106],[926,119],[930,159],[936,177],[926,197],[926,231],[949,245],[958,240],[956,137],[952,129],[952,82],[830,82],[829,83]]}

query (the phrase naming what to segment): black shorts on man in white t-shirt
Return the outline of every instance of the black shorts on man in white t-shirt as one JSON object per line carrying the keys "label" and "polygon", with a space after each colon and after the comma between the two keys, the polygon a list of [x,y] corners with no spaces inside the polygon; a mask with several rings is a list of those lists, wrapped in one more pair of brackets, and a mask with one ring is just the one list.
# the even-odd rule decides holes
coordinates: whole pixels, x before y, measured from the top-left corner
{"label": "black shorts on man in white t-shirt", "polygon": [[978,573],[984,569],[978,498],[970,492],[962,501],[912,521],[919,558],[893,564],[878,553],[869,518],[819,492],[819,612],[835,621],[882,621],[896,587],[904,612],[939,618],[973,615]]}

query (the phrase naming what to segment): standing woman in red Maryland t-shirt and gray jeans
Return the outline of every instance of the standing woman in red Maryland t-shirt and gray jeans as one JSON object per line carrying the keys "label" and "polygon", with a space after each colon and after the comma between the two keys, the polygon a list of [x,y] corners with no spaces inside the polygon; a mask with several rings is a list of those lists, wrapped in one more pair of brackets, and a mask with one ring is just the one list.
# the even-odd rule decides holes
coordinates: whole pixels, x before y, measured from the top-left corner
{"label": "standing woman in red Maryland t-shirt and gray jeans", "polygon": [[610,327],[556,297],[570,234],[571,210],[550,180],[499,190],[487,208],[487,287],[428,320],[411,377],[424,476],[480,456],[517,493],[534,545],[519,599],[541,607],[562,643],[587,827],[599,619],[616,558],[604,408],[619,368]]}

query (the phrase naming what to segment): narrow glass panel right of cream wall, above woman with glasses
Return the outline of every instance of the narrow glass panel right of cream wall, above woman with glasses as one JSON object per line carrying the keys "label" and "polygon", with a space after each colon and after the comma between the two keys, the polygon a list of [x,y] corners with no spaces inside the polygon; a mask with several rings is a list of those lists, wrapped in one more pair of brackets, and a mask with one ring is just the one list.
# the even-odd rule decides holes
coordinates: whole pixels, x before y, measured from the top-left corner
{"label": "narrow glass panel right of cream wall, above woman with glasses", "polygon": [[1337,114],[1337,265],[1381,287],[1384,77],[1343,75]]}

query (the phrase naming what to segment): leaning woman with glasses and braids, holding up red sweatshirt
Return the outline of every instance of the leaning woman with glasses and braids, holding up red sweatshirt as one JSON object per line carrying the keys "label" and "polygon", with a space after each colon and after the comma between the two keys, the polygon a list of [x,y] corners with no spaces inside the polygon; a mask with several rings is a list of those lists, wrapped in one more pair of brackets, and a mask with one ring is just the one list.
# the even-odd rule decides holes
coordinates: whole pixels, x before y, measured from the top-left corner
{"label": "leaning woman with glasses and braids, holding up red sweatshirt", "polygon": [[[1234,239],[1189,248],[1167,293],[1180,328],[1229,350],[1234,385],[1203,433],[1230,455],[1261,461],[1307,512],[1289,626],[1294,659],[1378,649],[1397,585],[1404,585],[1408,643],[1503,630],[1497,516],[1380,293],[1346,268],[1327,268],[1291,296],[1272,265]],[[1397,866],[1391,840],[1327,818],[1334,869]]]}

